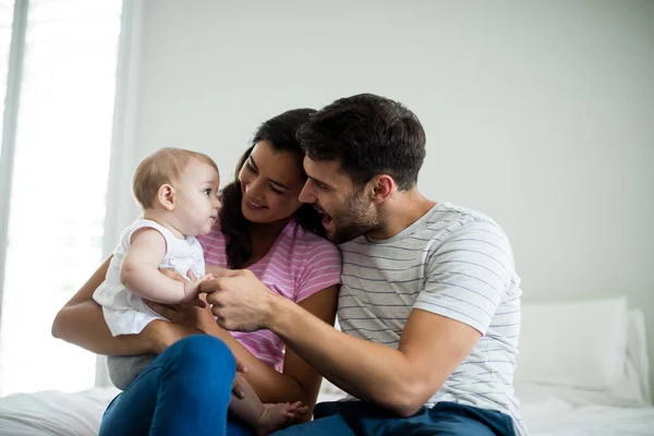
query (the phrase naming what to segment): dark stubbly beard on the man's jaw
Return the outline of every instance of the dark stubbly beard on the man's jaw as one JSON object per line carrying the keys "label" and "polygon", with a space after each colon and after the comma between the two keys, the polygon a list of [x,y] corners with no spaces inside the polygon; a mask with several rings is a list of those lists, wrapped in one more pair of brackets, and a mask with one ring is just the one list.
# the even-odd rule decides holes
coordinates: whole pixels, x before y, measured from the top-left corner
{"label": "dark stubbly beard on the man's jaw", "polygon": [[378,230],[383,227],[379,218],[362,202],[356,193],[350,196],[343,207],[330,215],[335,231],[329,235],[335,244],[342,244],[362,234]]}

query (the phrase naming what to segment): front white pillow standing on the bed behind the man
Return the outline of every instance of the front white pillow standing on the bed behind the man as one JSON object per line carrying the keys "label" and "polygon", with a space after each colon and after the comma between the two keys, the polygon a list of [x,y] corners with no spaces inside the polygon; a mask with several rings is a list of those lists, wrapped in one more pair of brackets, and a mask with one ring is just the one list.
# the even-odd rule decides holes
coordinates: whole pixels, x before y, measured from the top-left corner
{"label": "front white pillow standing on the bed behind the man", "polygon": [[625,298],[524,304],[517,382],[603,390],[625,376]]}

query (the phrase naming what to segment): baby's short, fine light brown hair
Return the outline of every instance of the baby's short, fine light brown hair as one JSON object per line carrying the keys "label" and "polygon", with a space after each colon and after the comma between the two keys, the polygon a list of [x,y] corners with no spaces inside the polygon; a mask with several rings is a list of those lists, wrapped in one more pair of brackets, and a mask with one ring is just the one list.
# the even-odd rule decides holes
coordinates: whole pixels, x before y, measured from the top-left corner
{"label": "baby's short, fine light brown hair", "polygon": [[218,172],[214,159],[182,148],[161,148],[143,159],[132,181],[132,192],[141,208],[153,207],[159,187],[179,179],[193,159],[210,165]]}

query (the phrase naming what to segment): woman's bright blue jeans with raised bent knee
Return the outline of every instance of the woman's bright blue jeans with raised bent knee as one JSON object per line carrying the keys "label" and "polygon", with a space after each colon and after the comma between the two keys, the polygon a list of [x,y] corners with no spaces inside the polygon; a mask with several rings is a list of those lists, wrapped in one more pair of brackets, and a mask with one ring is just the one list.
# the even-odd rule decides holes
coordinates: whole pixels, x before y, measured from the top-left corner
{"label": "woman's bright blue jeans with raised bent knee", "polygon": [[235,361],[219,339],[175,342],[107,408],[99,436],[254,435],[227,416]]}

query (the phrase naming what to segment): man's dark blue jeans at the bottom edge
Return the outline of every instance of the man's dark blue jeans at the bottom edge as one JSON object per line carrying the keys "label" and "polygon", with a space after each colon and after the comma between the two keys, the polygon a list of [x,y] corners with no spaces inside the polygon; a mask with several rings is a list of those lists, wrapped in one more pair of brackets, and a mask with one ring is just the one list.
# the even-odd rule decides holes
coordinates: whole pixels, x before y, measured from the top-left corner
{"label": "man's dark blue jeans at the bottom edge", "polygon": [[422,408],[398,417],[363,401],[323,402],[314,421],[275,432],[272,436],[514,436],[510,416],[453,402]]}

